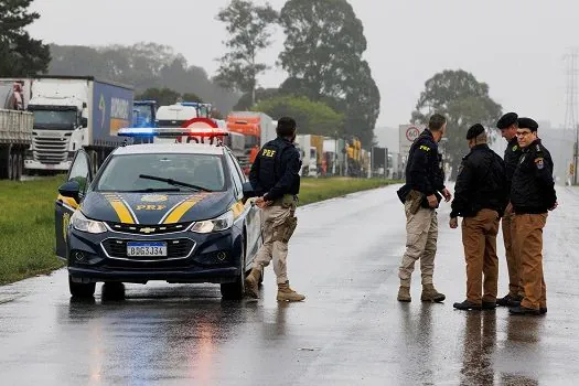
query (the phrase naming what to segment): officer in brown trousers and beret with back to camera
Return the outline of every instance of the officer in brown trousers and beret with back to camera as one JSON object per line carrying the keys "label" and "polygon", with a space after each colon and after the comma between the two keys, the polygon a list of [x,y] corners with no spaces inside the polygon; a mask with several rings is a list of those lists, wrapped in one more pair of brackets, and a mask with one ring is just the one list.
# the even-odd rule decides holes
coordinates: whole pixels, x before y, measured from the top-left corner
{"label": "officer in brown trousers and beret with back to camera", "polygon": [[458,227],[459,216],[463,217],[467,300],[454,303],[454,308],[494,309],[498,285],[496,235],[507,200],[505,164],[486,144],[482,125],[473,125],[467,132],[467,140],[471,151],[462,159],[450,213],[451,228]]}

